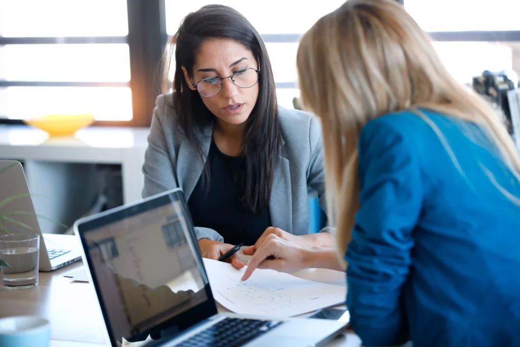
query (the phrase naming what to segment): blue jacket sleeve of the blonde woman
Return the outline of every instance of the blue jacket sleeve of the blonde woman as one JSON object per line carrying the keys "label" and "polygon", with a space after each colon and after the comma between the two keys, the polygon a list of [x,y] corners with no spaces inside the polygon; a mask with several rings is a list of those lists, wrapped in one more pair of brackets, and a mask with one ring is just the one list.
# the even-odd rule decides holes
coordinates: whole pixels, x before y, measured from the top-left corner
{"label": "blue jacket sleeve of the blonde woman", "polygon": [[421,169],[414,148],[385,122],[369,122],[358,148],[360,209],[345,257],[350,324],[363,345],[402,344],[409,333],[401,290],[422,207]]}

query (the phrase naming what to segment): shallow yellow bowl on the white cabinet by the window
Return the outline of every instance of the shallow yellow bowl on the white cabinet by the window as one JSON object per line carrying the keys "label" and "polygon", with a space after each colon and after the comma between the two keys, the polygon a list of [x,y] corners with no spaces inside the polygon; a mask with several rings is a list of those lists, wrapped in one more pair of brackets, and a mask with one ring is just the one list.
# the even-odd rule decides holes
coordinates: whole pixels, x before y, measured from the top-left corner
{"label": "shallow yellow bowl on the white cabinet by the window", "polygon": [[94,114],[46,114],[24,122],[46,131],[50,136],[69,136],[94,123]]}

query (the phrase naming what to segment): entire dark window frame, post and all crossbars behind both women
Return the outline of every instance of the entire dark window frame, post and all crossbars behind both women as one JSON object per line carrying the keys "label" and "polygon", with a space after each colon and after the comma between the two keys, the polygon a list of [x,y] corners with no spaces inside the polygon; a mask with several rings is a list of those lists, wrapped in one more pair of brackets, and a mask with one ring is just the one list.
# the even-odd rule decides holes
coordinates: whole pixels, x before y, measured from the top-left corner
{"label": "entire dark window frame, post and all crossbars behind both women", "polygon": [[[405,5],[404,0],[396,0]],[[168,40],[164,0],[127,0],[128,35],[103,37],[1,37],[0,46],[13,44],[128,44],[129,82],[25,82],[0,81],[9,86],[109,86],[130,87],[133,118],[131,121],[96,121],[97,126],[149,126],[155,98],[161,93],[158,67]],[[520,42],[518,31],[429,32],[439,42]],[[302,33],[261,34],[265,43],[297,43]],[[520,52],[518,52],[520,54]],[[519,71],[520,72],[520,71]],[[519,82],[520,84],[520,82]],[[296,89],[296,82],[278,82],[276,88]],[[21,120],[0,119],[0,124],[24,124]]]}

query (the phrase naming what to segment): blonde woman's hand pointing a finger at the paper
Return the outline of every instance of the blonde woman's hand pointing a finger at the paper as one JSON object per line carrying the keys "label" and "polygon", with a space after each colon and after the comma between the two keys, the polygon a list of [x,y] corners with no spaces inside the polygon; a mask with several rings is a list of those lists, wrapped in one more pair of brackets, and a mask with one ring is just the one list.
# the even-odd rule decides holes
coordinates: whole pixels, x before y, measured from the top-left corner
{"label": "blonde woman's hand pointing a finger at the paper", "polygon": [[256,268],[269,268],[287,273],[307,268],[310,250],[271,233],[264,238],[258,249],[250,246],[244,248],[243,252],[245,255],[253,255],[242,276],[242,280],[245,281]]}

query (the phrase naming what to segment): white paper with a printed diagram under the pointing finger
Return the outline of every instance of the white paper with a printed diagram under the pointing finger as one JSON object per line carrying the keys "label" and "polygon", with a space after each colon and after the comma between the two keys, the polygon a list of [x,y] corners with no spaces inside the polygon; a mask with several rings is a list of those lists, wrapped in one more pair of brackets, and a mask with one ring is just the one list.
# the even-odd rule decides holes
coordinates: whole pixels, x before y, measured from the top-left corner
{"label": "white paper with a printed diagram under the pointing finger", "polygon": [[297,316],[345,303],[346,286],[297,278],[274,270],[256,269],[241,281],[245,268],[205,259],[213,297],[226,309],[240,314]]}

